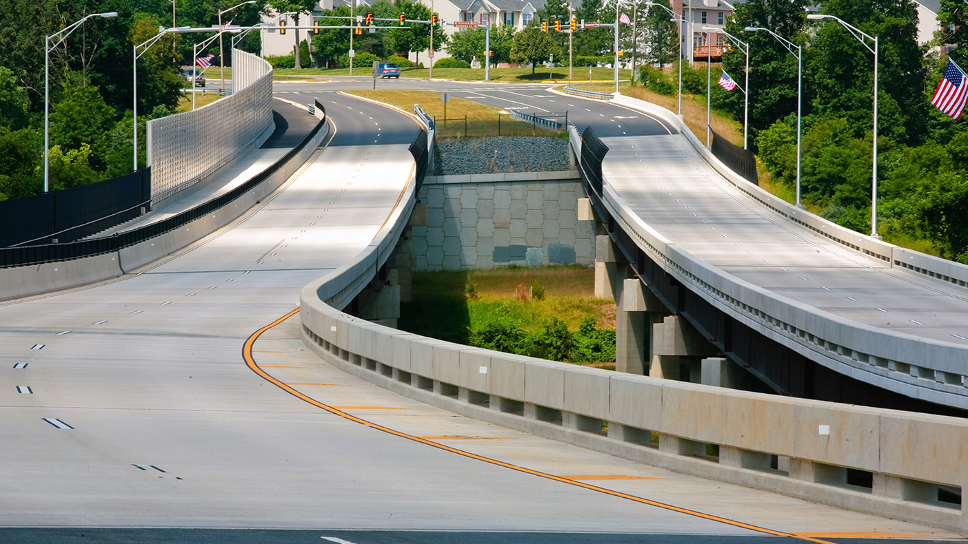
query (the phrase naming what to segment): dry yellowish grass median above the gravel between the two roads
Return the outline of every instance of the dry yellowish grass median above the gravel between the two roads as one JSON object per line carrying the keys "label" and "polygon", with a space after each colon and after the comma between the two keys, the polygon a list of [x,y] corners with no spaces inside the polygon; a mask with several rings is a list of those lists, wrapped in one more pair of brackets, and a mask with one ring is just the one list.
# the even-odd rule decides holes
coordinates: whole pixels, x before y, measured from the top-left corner
{"label": "dry yellowish grass median above the gravel between the two roads", "polygon": [[[419,103],[428,115],[438,120],[437,138],[479,138],[483,136],[556,136],[561,130],[535,128],[530,123],[511,119],[502,110],[471,100],[451,98],[447,103],[447,118],[444,122],[443,103],[439,93],[431,91],[388,91],[361,90],[347,91],[348,94],[379,100],[395,105],[405,111],[413,111],[413,104]],[[465,124],[467,116],[467,124]]]}

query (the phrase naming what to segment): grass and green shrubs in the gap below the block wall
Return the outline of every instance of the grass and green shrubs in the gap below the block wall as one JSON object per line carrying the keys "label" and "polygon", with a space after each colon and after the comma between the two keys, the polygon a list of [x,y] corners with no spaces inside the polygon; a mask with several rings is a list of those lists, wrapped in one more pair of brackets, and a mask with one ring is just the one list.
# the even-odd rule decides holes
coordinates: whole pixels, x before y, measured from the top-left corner
{"label": "grass and green shrubs in the gap below the block wall", "polygon": [[615,304],[593,297],[584,267],[413,274],[402,329],[536,358],[615,360]]}

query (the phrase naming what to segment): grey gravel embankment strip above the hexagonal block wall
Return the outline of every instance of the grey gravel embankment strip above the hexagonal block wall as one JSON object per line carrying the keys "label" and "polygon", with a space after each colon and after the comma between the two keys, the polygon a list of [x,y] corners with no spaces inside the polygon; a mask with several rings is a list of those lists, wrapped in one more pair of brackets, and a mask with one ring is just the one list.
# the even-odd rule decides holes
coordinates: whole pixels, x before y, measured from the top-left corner
{"label": "grey gravel embankment strip above the hexagonal block wall", "polygon": [[568,141],[554,137],[451,138],[435,144],[438,176],[567,170]]}

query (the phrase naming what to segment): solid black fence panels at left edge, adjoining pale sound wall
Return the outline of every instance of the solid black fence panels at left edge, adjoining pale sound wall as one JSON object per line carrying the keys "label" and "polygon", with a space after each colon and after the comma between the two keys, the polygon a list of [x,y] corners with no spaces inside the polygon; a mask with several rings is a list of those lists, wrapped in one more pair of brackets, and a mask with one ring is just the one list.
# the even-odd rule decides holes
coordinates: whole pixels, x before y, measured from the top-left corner
{"label": "solid black fence panels at left edge, adjoining pale sound wall", "polygon": [[0,246],[72,242],[151,209],[150,169],[0,202]]}

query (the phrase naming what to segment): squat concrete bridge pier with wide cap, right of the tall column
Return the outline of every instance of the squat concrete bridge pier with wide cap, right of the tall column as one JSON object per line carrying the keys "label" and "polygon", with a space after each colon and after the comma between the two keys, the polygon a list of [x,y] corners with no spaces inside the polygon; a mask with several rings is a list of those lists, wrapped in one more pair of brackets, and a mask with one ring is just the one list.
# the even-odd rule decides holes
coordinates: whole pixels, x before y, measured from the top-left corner
{"label": "squat concrete bridge pier with wide cap, right of the tall column", "polygon": [[652,326],[651,363],[653,378],[699,383],[702,358],[715,355],[711,344],[680,316],[667,316]]}

